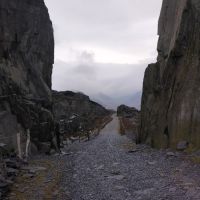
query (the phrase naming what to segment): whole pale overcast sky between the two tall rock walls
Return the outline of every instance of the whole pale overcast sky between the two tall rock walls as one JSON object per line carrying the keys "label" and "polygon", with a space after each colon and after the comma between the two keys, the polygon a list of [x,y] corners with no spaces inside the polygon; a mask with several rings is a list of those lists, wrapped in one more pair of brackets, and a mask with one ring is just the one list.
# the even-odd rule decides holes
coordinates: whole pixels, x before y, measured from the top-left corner
{"label": "whole pale overcast sky between the two tall rock walls", "polygon": [[55,33],[53,89],[95,99],[142,90],[144,70],[157,57],[162,0],[45,2]]}

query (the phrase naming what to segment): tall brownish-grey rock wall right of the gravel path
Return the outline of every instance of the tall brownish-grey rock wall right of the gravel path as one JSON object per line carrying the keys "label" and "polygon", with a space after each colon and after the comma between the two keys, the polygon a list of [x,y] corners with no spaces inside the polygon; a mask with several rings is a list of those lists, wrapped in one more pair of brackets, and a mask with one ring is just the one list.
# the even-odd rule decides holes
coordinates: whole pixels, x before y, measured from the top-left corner
{"label": "tall brownish-grey rock wall right of the gravel path", "polygon": [[200,148],[200,3],[163,0],[158,59],[143,83],[140,141]]}

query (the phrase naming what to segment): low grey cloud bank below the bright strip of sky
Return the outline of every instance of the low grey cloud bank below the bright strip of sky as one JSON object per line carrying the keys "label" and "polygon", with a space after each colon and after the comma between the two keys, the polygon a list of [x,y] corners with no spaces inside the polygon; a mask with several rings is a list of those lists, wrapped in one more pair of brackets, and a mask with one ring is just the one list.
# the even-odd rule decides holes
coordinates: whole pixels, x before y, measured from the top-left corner
{"label": "low grey cloud bank below the bright strip of sky", "polygon": [[139,107],[143,71],[146,65],[146,63],[138,65],[93,63],[92,73],[90,70],[81,73],[80,69],[77,71],[77,63],[57,60],[54,66],[54,70],[57,70],[53,73],[53,87],[84,92],[95,101],[112,108],[116,108],[119,103]]}

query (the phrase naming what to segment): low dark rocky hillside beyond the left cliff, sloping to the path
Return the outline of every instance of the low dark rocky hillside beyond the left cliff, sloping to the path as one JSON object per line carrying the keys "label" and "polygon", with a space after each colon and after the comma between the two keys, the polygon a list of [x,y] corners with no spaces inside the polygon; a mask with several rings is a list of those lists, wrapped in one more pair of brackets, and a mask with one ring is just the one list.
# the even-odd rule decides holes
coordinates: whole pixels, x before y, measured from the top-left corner
{"label": "low dark rocky hillside beyond the left cliff, sloping to the path", "polygon": [[53,91],[53,113],[57,122],[65,124],[63,132],[74,135],[95,129],[110,111],[82,93]]}

